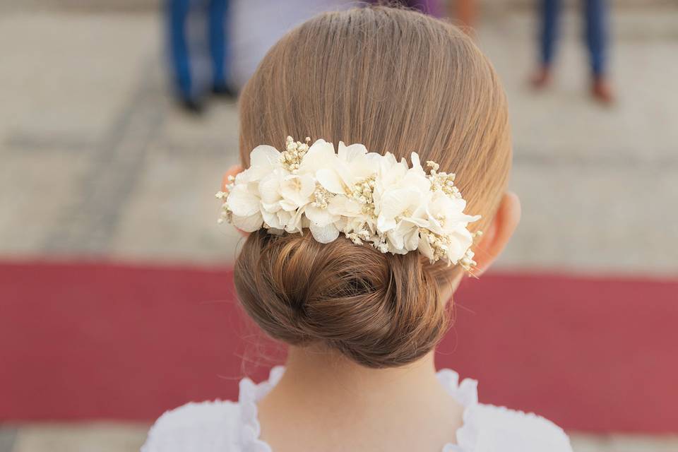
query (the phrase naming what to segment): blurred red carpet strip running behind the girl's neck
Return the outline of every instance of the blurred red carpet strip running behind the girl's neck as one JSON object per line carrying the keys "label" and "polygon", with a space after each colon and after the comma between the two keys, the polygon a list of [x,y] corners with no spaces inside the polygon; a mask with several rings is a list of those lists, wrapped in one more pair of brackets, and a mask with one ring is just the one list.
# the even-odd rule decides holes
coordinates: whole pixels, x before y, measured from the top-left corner
{"label": "blurred red carpet strip running behind the girl's neck", "polygon": [[[439,367],[566,429],[678,432],[678,281],[469,280]],[[151,420],[281,360],[227,268],[0,263],[0,422]]]}

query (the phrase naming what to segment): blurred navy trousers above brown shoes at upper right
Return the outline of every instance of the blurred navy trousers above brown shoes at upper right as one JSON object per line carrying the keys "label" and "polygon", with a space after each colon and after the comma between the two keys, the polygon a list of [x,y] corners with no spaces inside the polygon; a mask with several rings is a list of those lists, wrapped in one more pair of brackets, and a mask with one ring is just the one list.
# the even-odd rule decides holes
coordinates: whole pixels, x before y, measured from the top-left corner
{"label": "blurred navy trousers above brown shoes at upper right", "polygon": [[[541,58],[544,66],[553,61],[561,0],[541,1]],[[594,76],[605,73],[607,50],[607,0],[582,0],[586,20],[585,40],[588,46],[591,72]]]}

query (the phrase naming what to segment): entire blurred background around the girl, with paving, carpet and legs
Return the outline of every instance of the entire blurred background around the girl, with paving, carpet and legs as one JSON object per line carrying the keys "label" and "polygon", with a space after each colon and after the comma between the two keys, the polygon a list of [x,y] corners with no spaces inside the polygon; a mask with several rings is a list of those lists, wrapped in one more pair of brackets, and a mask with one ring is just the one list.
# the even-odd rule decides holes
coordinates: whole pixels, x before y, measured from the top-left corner
{"label": "entire blurred background around the girl, with paving, carpet and legs", "polygon": [[[258,59],[352,5],[0,0],[0,452],[136,451],[164,410],[280,362],[237,309],[213,195]],[[439,367],[577,452],[678,451],[678,1],[415,6],[504,80],[523,201]]]}

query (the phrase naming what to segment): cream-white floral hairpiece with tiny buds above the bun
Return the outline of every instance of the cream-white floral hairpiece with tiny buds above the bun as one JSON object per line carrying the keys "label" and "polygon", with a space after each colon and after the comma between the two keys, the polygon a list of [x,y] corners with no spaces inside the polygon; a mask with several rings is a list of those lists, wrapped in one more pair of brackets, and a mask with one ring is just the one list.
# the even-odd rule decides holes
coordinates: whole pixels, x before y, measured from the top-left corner
{"label": "cream-white floral hairpiece with tiny buds above the bun", "polygon": [[468,223],[466,201],[454,185],[454,174],[412,153],[412,167],[391,153],[368,153],[362,144],[318,140],[309,146],[288,136],[282,153],[259,145],[250,154],[250,167],[229,179],[218,222],[240,230],[266,228],[270,234],[308,228],[321,243],[340,233],[355,244],[369,243],[382,253],[418,250],[433,263],[442,259],[465,270],[475,266],[475,235]]}

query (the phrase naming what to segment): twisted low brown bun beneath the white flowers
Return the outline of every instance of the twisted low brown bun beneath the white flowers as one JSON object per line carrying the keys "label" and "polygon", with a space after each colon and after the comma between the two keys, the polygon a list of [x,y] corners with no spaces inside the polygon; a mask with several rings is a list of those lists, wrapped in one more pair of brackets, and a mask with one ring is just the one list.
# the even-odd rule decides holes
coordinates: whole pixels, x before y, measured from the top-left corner
{"label": "twisted low brown bun beneath the white flowers", "polygon": [[367,367],[396,367],[432,350],[446,331],[427,265],[418,253],[259,230],[237,258],[235,287],[249,316],[275,339],[323,343]]}

